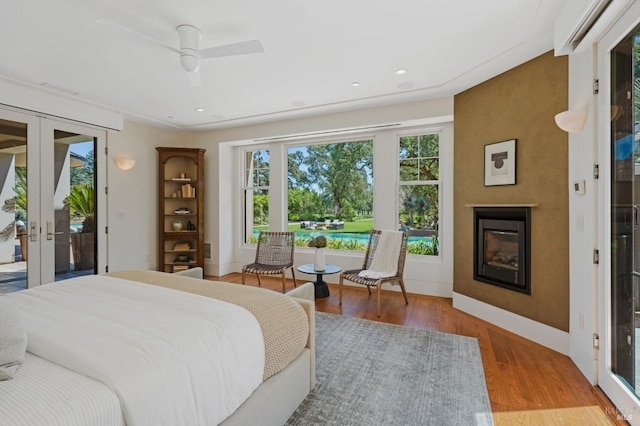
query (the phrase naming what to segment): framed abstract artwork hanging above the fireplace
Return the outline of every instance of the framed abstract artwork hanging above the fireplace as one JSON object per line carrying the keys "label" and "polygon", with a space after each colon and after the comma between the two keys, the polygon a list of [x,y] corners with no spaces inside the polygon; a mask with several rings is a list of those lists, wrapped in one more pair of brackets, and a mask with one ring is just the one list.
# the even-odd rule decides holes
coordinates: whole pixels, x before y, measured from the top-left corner
{"label": "framed abstract artwork hanging above the fireplace", "polygon": [[515,185],[516,140],[484,146],[484,186]]}

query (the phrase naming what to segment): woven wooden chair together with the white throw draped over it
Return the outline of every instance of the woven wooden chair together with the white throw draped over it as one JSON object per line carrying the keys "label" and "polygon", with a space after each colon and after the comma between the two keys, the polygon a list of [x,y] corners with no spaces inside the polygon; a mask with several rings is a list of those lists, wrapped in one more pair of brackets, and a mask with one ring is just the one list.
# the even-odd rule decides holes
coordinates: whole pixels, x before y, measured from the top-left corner
{"label": "woven wooden chair together with the white throw draped over it", "polygon": [[380,316],[380,288],[384,283],[400,285],[404,301],[409,304],[402,279],[408,239],[407,232],[372,230],[362,268],[343,271],[340,274],[340,305],[342,305],[344,280],[367,286],[369,295],[371,295],[371,287],[378,289],[378,316]]}

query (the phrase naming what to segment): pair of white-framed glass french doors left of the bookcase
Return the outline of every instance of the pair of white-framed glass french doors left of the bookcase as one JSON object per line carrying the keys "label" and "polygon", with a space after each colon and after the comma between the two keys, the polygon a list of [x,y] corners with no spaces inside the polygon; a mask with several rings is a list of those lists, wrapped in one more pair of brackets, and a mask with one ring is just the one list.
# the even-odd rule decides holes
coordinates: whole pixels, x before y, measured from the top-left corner
{"label": "pair of white-framed glass french doors left of the bookcase", "polygon": [[103,130],[0,109],[5,292],[104,272],[105,146]]}

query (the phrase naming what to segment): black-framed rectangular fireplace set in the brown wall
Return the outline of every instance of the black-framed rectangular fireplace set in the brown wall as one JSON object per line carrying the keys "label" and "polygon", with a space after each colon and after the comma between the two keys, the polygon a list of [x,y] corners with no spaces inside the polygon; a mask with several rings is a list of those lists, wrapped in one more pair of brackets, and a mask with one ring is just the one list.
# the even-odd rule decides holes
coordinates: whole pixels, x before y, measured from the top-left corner
{"label": "black-framed rectangular fireplace set in the brown wall", "polygon": [[531,294],[531,208],[475,207],[473,279]]}

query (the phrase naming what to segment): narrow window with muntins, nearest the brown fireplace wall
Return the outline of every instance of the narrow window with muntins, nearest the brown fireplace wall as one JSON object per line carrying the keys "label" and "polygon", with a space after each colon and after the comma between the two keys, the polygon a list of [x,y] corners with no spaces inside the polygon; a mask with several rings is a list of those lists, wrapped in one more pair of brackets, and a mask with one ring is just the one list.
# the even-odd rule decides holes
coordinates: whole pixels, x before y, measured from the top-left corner
{"label": "narrow window with muntins, nearest the brown fireplace wall", "polygon": [[409,231],[409,254],[439,254],[439,145],[439,133],[400,137],[398,222]]}

